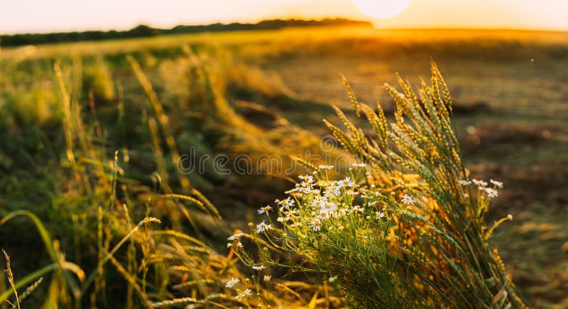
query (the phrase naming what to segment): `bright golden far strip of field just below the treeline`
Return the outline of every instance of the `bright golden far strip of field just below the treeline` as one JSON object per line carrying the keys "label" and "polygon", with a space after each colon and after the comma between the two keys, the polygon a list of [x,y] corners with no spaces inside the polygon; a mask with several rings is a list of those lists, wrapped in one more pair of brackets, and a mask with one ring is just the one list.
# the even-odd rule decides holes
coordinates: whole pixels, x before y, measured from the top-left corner
{"label": "bright golden far strip of field just below the treeline", "polygon": [[[216,33],[175,34],[151,38],[129,38],[78,43],[59,43],[24,48],[4,48],[1,57],[20,58],[22,51],[31,58],[58,58],[113,53],[132,53],[145,49],[175,48],[185,44],[246,46],[251,54],[274,53],[275,46],[292,50],[300,45],[317,45],[334,40],[377,40],[391,43],[441,43],[482,40],[516,40],[520,43],[568,43],[560,31],[515,31],[499,29],[376,29],[354,26],[283,28],[279,31],[227,31]],[[268,43],[268,44],[267,44]],[[283,46],[283,44],[286,45]]]}

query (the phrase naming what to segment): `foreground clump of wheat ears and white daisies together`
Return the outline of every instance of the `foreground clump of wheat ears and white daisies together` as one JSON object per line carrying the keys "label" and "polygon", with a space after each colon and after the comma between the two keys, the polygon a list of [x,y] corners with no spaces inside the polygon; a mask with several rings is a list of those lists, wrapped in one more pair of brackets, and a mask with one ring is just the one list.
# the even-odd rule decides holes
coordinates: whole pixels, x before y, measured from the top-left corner
{"label": "foreground clump of wheat ears and white daisies together", "polygon": [[[337,181],[333,166],[306,163],[312,175],[258,210],[262,221],[251,234],[260,260],[239,242],[243,234],[229,237],[233,250],[250,266],[320,273],[354,308],[524,308],[488,244],[493,229],[511,219],[491,228],[485,222],[502,183],[469,180],[450,121],[452,99],[435,64],[431,85],[422,82],[417,94],[398,81],[402,92],[385,86],[393,120],[380,105],[375,111],[357,102],[345,82],[372,131],[337,108],[346,131],[325,123],[359,163]],[[247,296],[239,299],[246,304]]]}

